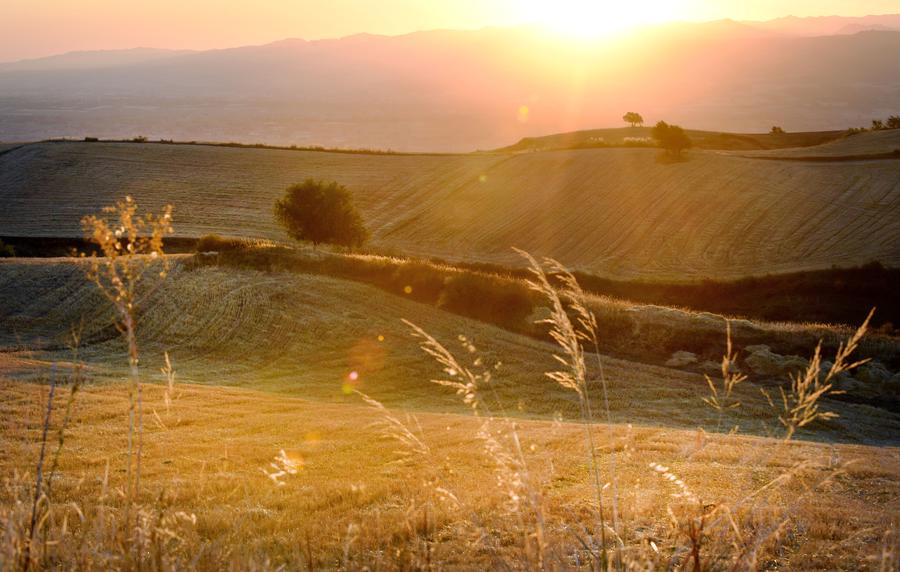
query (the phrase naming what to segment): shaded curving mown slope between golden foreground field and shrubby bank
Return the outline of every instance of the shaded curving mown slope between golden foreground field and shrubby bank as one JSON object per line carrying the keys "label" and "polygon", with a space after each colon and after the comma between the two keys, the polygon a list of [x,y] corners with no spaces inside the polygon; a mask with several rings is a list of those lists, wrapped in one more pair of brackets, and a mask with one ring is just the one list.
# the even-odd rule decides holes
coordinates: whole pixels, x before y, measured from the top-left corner
{"label": "shaded curving mown slope between golden foreground field and shrubby bank", "polygon": [[[82,357],[98,381],[125,375],[124,348],[111,328],[109,306],[71,260],[0,264],[0,370],[46,375],[67,362],[62,344],[84,324]],[[430,411],[461,411],[458,400],[428,382],[439,368],[425,358],[401,318],[409,319],[465,359],[488,367],[502,362],[494,390],[511,411],[538,417],[577,416],[571,392],[543,372],[555,368],[553,346],[405,300],[355,282],[290,273],[198,268],[178,263],[146,302],[139,333],[142,363],[161,379],[164,351],[187,383],[248,387],[306,399],[343,401],[360,389],[387,404]],[[459,335],[477,348],[470,354]],[[11,351],[13,350],[13,351]],[[715,425],[701,401],[703,377],[664,367],[605,358],[614,418],[632,423],[693,428]],[[20,372],[17,374],[16,372]],[[357,379],[348,376],[356,372]],[[758,389],[747,385],[739,421],[762,432],[770,417]],[[351,398],[356,399],[356,398]],[[819,428],[835,438],[879,440],[900,417],[871,407],[833,403],[842,419]],[[890,432],[888,432],[890,434]]]}

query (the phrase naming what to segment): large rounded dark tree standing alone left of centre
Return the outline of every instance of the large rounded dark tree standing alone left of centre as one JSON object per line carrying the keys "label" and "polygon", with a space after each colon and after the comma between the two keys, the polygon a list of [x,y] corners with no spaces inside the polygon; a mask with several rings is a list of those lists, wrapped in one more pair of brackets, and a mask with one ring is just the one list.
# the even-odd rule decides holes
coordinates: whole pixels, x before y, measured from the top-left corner
{"label": "large rounded dark tree standing alone left of centre", "polygon": [[275,201],[275,220],[297,241],[362,246],[369,233],[350,191],[334,181],[307,179],[287,188]]}

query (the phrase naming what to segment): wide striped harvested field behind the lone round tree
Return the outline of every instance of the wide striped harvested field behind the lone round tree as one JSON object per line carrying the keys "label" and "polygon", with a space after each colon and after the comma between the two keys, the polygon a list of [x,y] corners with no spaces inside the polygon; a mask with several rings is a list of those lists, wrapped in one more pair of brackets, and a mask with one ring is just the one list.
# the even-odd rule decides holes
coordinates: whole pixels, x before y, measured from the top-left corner
{"label": "wide striped harvested field behind the lone round tree", "polygon": [[0,236],[79,236],[83,214],[131,194],[148,208],[174,204],[180,236],[280,240],[272,203],[306,177],[351,189],[374,247],[417,255],[515,264],[517,246],[597,274],[659,279],[900,264],[900,161],[695,152],[665,164],[652,149],[382,156],[35,144],[0,157]]}

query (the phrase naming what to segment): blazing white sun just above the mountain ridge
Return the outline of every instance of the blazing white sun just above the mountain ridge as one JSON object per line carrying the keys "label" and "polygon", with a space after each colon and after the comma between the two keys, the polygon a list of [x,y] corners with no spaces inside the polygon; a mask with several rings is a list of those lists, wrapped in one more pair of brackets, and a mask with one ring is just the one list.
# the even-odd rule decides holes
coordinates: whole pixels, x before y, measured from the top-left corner
{"label": "blazing white sun just above the mountain ridge", "polygon": [[671,0],[526,0],[529,20],[579,39],[614,36],[630,29],[672,20]]}

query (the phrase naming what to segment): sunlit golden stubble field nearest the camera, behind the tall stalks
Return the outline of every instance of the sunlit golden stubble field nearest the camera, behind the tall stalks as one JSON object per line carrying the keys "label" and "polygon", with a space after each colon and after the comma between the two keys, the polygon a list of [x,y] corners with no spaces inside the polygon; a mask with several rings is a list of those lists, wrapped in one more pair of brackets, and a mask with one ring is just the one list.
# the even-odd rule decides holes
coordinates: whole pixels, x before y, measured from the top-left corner
{"label": "sunlit golden stubble field nearest the camera, behind the tall stalks", "polygon": [[[27,485],[47,391],[46,385],[0,384],[5,525],[30,507]],[[483,418],[419,414],[413,421],[399,415],[425,445],[410,454],[378,426],[383,413],[361,399],[358,405],[329,405],[186,385],[178,386],[167,409],[163,393],[161,386],[146,388],[142,489],[143,500],[156,500],[160,511],[159,520],[146,520],[148,553],[163,555],[159,569],[530,567],[523,549],[529,522],[515,518],[525,511],[513,506],[497,454],[480,445]],[[63,390],[56,406],[65,399]],[[89,387],[79,397],[53,483],[58,500],[49,520],[57,533],[41,547],[64,558],[56,560],[63,568],[124,564],[121,554],[103,552],[96,543],[102,535],[115,536],[111,527],[123,510],[127,403],[124,385]],[[509,427],[499,421],[490,427],[502,443]],[[518,427],[552,547],[547,568],[580,567],[579,559],[590,567],[578,540],[596,532],[583,428],[547,421]],[[281,486],[264,474],[274,472],[269,464],[280,450],[298,469],[277,479]],[[741,525],[781,527],[759,547],[759,568],[896,565],[889,558],[900,511],[897,448],[617,425],[604,433],[599,451],[604,459],[615,454],[629,568],[655,568],[674,556],[690,569],[686,532],[673,520],[691,510],[678,497],[683,488],[706,507],[734,506]],[[681,481],[650,463],[664,465]],[[604,462],[604,478],[609,468]],[[610,501],[612,491],[607,487],[604,495]],[[64,522],[69,531],[62,537]],[[713,569],[731,568],[734,550],[717,537],[729,526],[707,526],[713,534],[703,545],[704,559]],[[13,526],[5,532],[22,531]],[[8,565],[11,557],[0,555],[0,562]],[[154,568],[150,561],[147,568]]]}

